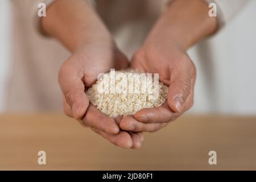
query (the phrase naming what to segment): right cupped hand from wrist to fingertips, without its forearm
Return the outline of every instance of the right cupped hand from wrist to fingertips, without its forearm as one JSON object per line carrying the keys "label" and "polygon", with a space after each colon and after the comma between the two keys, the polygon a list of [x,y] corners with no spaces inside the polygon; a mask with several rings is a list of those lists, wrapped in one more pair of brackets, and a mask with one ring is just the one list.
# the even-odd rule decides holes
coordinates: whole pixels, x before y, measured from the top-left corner
{"label": "right cupped hand from wrist to fingertips, without its forearm", "polygon": [[159,81],[168,86],[167,101],[162,106],[127,115],[120,123],[121,129],[154,132],[192,107],[196,68],[185,49],[175,40],[159,35],[150,37],[133,56],[131,67],[159,73]]}

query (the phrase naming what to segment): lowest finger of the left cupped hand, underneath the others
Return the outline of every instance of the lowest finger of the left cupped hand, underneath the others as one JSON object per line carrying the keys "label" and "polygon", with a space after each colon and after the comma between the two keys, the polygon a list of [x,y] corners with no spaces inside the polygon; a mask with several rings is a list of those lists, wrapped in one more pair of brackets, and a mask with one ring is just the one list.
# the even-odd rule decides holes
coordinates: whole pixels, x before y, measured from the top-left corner
{"label": "lowest finger of the left cupped hand, underneath the others", "polygon": [[111,135],[98,129],[92,128],[92,130],[100,134],[105,139],[108,139],[111,143],[115,144],[116,146],[123,147],[123,148],[133,147],[133,140],[131,139],[130,134],[127,133],[126,131],[120,131],[116,135]]}

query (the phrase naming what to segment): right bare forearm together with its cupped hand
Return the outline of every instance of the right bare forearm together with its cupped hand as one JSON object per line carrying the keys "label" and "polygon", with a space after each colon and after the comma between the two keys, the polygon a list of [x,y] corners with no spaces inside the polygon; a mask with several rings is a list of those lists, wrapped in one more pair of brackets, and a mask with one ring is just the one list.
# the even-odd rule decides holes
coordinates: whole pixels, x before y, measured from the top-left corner
{"label": "right bare forearm together with its cupped hand", "polygon": [[200,0],[172,1],[167,6],[131,61],[134,69],[159,73],[159,81],[169,87],[167,101],[127,115],[120,122],[121,129],[154,132],[192,107],[196,68],[186,50],[216,31],[217,20],[208,11]]}

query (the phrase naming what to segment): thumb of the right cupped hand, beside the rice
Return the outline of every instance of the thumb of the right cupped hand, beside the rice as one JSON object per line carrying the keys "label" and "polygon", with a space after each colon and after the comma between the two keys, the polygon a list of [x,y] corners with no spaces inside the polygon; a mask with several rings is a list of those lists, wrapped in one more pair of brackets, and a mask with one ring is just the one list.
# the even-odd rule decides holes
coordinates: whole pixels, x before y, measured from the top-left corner
{"label": "thumb of the right cupped hand, beside the rice", "polygon": [[171,78],[168,88],[168,105],[171,110],[180,112],[184,110],[184,103],[191,92],[191,76],[179,75]]}

